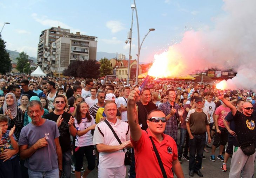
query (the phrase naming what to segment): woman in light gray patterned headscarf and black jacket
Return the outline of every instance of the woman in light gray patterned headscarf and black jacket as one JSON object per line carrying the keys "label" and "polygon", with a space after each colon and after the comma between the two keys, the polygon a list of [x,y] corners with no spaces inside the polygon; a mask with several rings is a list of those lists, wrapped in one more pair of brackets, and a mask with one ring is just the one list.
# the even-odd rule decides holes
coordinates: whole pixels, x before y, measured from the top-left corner
{"label": "woman in light gray patterned headscarf and black jacket", "polygon": [[17,140],[20,138],[20,131],[23,127],[23,112],[18,107],[16,97],[13,93],[7,93],[5,95],[5,102],[3,106],[3,114],[9,119],[8,122],[8,129],[13,128],[16,126],[14,131],[14,135]]}

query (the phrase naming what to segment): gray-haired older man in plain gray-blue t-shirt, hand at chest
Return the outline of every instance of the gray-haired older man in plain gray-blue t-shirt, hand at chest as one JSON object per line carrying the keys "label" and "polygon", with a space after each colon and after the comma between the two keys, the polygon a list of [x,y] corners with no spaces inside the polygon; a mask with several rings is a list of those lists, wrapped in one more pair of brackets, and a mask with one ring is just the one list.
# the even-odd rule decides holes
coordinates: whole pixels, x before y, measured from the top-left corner
{"label": "gray-haired older man in plain gray-blue t-shirt, hand at chest", "polygon": [[31,101],[27,106],[32,121],[21,129],[20,158],[25,160],[29,177],[59,178],[62,171],[62,152],[59,129],[54,121],[42,118],[43,106]]}

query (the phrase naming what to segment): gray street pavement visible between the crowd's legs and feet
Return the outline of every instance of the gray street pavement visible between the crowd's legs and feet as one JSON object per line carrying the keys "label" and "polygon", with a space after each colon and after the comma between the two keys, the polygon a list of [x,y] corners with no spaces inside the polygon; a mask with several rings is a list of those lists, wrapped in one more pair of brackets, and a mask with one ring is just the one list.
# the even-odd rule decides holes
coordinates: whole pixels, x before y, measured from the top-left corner
{"label": "gray street pavement visible between the crowd's legs and feet", "polygon": [[[207,148],[209,151],[210,149]],[[218,148],[216,149],[216,153],[218,153]],[[201,169],[201,172],[203,174],[203,177],[204,178],[228,178],[228,174],[229,174],[229,170],[230,170],[230,161],[231,161],[231,158],[229,158],[229,161],[228,161],[228,164],[227,164],[227,169],[228,169],[228,172],[223,172],[221,171],[221,165],[222,165],[222,161],[218,160],[216,158],[216,161],[213,162],[213,161],[210,161],[210,153],[205,153],[204,152],[204,156],[206,156],[206,160],[203,160],[202,162],[202,169]],[[215,154],[216,156],[216,154]],[[147,164],[145,164],[145,169],[147,169]],[[84,168],[86,168],[86,165],[87,165],[87,162],[84,161]],[[183,169],[183,172],[184,172],[184,175],[186,178],[188,178],[188,166],[189,166],[189,162],[186,161],[186,160],[182,160],[182,169]],[[128,166],[127,166],[127,169],[128,169]],[[98,169],[95,169],[93,172],[90,173],[90,175],[88,176],[89,178],[96,178],[97,177],[97,171]],[[74,178],[75,176],[72,175],[72,178]],[[194,177],[199,177],[197,176],[196,174],[194,174]],[[107,176],[106,176],[107,178]]]}

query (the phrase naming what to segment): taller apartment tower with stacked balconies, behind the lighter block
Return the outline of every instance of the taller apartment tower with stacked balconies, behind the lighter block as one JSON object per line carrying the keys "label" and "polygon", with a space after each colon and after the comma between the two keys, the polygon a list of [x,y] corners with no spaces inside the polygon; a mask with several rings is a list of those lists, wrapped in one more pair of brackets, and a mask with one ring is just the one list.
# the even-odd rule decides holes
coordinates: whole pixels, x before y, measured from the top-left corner
{"label": "taller apartment tower with stacked balconies, behind the lighter block", "polygon": [[69,33],[70,30],[51,27],[43,30],[39,36],[37,62],[44,72],[52,72],[51,70],[55,68],[55,42],[60,37],[61,32]]}

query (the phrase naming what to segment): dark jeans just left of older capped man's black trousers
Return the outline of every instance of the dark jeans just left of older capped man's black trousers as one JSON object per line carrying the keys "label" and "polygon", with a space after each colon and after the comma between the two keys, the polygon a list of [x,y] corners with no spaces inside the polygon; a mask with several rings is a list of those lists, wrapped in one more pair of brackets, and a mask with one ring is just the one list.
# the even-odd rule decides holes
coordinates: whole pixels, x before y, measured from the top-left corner
{"label": "dark jeans just left of older capped man's black trousers", "polygon": [[179,144],[179,146],[178,146],[178,157],[181,157],[181,156],[182,156],[182,153],[183,153],[183,145],[184,145],[184,143],[185,143],[185,140],[186,140],[186,145],[185,145],[185,148],[184,148],[184,153],[183,153],[183,155],[184,155],[184,156],[188,156],[189,135],[188,135],[187,129],[186,129],[186,128],[180,128],[180,132],[181,132],[181,135],[180,135],[180,144]]}

